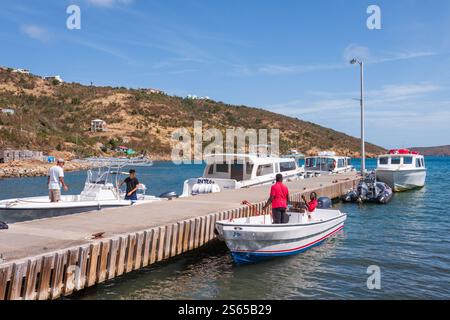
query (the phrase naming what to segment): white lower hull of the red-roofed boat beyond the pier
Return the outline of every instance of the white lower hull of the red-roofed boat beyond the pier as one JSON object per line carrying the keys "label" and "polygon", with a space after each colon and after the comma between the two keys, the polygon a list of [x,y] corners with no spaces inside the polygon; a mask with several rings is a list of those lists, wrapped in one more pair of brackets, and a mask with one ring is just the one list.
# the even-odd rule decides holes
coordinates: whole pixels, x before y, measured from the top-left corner
{"label": "white lower hull of the red-roofed boat beyond the pier", "polygon": [[426,170],[381,170],[376,171],[377,179],[389,185],[395,192],[423,188]]}

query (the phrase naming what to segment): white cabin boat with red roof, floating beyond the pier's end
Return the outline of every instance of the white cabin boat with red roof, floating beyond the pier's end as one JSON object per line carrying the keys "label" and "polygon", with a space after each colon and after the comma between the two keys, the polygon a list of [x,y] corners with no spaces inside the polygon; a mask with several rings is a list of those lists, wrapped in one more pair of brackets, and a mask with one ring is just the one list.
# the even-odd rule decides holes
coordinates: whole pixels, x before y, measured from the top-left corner
{"label": "white cabin boat with red roof, floating beyond the pier's end", "polygon": [[422,188],[427,177],[425,158],[407,149],[393,149],[378,157],[376,174],[395,192]]}

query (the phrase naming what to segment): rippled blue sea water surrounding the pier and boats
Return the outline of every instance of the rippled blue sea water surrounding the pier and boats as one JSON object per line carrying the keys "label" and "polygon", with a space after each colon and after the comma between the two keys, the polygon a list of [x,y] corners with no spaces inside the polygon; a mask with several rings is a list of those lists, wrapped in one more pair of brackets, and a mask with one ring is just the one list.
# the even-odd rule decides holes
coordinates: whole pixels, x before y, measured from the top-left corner
{"label": "rippled blue sea water surrounding the pier and boats", "polygon": [[[349,215],[344,231],[304,254],[237,267],[215,242],[72,298],[449,299],[450,158],[428,158],[427,167],[425,188],[396,194],[386,206],[337,204]],[[201,172],[157,163],[140,174],[158,194],[180,192],[185,178]],[[74,191],[84,175],[68,174],[67,181]],[[0,197],[46,194],[43,185],[42,178],[3,180]],[[381,290],[367,288],[372,265],[381,269]]]}

